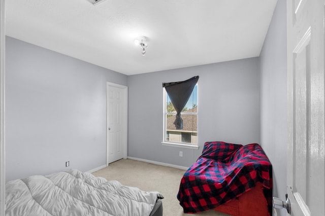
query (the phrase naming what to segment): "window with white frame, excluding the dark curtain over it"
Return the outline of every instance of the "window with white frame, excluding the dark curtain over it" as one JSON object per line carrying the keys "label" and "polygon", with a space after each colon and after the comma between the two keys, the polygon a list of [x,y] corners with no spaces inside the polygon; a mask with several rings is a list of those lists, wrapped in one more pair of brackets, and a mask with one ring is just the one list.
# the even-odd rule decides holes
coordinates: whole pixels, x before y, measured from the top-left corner
{"label": "window with white frame, excluding the dark curtain over it", "polygon": [[183,128],[177,129],[175,123],[176,111],[171,99],[164,88],[164,142],[179,145],[198,143],[198,84],[181,112]]}

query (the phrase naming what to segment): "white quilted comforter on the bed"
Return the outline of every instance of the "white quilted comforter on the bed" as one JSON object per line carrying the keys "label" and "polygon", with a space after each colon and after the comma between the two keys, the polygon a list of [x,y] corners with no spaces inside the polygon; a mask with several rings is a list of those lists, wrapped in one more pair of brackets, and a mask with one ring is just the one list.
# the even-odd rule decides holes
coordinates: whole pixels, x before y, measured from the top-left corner
{"label": "white quilted comforter on the bed", "polygon": [[161,196],[76,169],[6,183],[10,215],[149,215]]}

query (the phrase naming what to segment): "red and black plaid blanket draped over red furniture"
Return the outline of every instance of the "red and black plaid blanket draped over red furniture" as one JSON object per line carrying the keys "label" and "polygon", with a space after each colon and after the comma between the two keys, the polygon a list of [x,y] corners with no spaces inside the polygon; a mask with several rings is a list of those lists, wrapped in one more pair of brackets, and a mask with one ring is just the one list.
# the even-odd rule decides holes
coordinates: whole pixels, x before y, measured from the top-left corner
{"label": "red and black plaid blanket draped over red furniture", "polygon": [[272,165],[263,149],[257,143],[206,142],[183,175],[177,198],[185,213],[205,211],[239,197],[257,182],[263,185],[272,215]]}

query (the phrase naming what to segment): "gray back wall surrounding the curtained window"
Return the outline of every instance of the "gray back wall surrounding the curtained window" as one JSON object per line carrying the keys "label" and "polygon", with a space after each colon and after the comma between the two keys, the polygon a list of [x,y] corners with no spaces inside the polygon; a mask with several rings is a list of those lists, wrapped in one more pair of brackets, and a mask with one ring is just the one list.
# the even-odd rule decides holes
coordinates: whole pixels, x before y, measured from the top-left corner
{"label": "gray back wall surrounding the curtained window", "polygon": [[[161,84],[197,75],[200,148],[162,146]],[[189,167],[206,141],[259,142],[259,81],[258,58],[128,76],[128,156]]]}

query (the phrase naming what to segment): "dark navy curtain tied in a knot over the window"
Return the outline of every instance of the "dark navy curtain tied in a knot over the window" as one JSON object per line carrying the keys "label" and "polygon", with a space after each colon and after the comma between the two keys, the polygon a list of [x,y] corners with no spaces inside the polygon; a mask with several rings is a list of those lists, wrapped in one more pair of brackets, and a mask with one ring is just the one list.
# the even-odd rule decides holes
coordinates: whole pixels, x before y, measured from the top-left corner
{"label": "dark navy curtain tied in a knot over the window", "polygon": [[197,84],[199,76],[192,77],[188,80],[173,83],[163,83],[169,98],[176,110],[176,119],[174,125],[177,130],[183,129],[183,120],[181,112],[184,109],[189,97],[192,94],[194,86]]}

